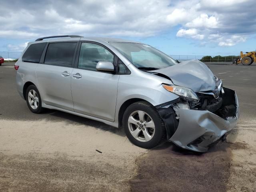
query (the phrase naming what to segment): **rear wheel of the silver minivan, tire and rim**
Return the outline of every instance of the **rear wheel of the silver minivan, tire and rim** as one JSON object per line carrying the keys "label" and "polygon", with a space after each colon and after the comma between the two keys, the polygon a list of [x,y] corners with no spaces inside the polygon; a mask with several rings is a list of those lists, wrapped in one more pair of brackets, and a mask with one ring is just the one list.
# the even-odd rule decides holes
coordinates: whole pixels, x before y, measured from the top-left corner
{"label": "rear wheel of the silver minivan, tire and rim", "polygon": [[42,108],[41,96],[36,86],[34,85],[28,86],[26,90],[26,102],[27,102],[28,108],[33,113],[42,112],[43,108]]}

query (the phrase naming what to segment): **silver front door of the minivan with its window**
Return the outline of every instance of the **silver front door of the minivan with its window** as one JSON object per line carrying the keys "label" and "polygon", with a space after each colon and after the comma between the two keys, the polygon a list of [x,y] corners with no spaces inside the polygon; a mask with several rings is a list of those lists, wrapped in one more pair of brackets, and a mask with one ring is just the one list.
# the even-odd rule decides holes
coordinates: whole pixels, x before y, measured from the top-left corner
{"label": "silver front door of the minivan with its window", "polygon": [[99,44],[83,42],[71,76],[74,111],[114,122],[119,75],[97,71],[99,61],[113,63],[114,55]]}

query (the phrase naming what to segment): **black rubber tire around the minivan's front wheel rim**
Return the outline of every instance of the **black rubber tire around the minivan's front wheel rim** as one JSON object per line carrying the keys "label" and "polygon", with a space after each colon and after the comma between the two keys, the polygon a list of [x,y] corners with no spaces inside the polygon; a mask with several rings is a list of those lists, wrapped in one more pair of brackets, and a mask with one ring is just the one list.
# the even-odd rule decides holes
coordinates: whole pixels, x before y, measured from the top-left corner
{"label": "black rubber tire around the minivan's front wheel rim", "polygon": [[[154,122],[154,125],[155,125],[154,136],[149,141],[142,142],[137,140],[136,138],[134,138],[134,136],[132,136],[129,130],[128,118],[133,112],[138,110],[146,112],[146,114],[148,114]],[[126,108],[123,115],[122,125],[126,133],[126,136],[130,140],[130,142],[142,148],[146,148],[146,149],[154,148],[158,146],[164,139],[166,139],[166,129],[164,126],[164,122],[162,121],[156,108],[151,104],[149,104],[148,102],[141,101],[141,102],[133,103],[130,106],[128,106],[128,108]]]}

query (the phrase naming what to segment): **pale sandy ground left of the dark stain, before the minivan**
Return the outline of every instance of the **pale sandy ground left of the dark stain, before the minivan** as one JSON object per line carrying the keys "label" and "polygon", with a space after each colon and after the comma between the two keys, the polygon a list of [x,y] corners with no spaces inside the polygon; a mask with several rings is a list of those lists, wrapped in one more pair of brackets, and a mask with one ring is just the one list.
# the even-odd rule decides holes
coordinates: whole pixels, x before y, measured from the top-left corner
{"label": "pale sandy ground left of the dark stain, before the minivan", "polygon": [[136,175],[134,160],[146,153],[122,132],[118,135],[91,126],[1,120],[0,127],[3,191],[39,186],[46,191],[128,190],[127,181]]}

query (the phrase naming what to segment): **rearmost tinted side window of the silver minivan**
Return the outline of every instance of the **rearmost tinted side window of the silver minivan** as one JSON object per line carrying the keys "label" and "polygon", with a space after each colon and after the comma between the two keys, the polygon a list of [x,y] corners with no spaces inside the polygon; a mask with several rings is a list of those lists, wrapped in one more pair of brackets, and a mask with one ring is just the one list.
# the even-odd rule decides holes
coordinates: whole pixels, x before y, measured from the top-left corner
{"label": "rearmost tinted side window of the silver minivan", "polygon": [[36,43],[30,45],[22,56],[22,61],[39,63],[46,43]]}

